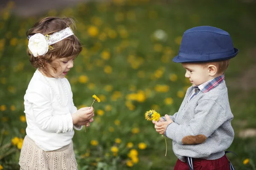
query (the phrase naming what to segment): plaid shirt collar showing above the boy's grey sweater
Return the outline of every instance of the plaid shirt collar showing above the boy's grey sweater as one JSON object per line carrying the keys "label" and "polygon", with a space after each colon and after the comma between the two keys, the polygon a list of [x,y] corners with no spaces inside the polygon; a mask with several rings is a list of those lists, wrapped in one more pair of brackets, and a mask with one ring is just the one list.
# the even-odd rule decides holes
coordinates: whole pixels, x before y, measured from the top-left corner
{"label": "plaid shirt collar showing above the boy's grey sweater", "polygon": [[220,75],[216,78],[213,78],[212,80],[209,80],[203,84],[200,84],[199,86],[195,86],[194,89],[190,95],[189,101],[197,95],[200,91],[203,93],[209,92],[214,87],[218,86],[224,81],[225,75]]}

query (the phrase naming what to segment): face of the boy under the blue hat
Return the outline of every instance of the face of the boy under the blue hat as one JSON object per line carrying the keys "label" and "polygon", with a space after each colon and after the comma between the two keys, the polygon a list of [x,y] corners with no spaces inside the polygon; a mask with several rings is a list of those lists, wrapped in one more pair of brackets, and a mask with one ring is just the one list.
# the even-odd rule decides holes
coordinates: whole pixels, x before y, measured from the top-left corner
{"label": "face of the boy under the blue hat", "polygon": [[208,67],[204,67],[200,63],[182,63],[182,66],[186,69],[185,77],[189,78],[193,86],[198,86],[212,79]]}

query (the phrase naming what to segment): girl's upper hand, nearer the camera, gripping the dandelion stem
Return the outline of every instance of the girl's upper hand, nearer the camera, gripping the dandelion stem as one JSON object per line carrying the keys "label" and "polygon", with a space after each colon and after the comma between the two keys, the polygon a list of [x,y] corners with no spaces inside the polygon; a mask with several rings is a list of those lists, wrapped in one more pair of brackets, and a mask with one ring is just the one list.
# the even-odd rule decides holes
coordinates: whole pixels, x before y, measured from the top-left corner
{"label": "girl's upper hand, nearer the camera, gripping the dandelion stem", "polygon": [[73,113],[72,119],[73,119],[73,124],[77,124],[78,122],[83,122],[83,121],[89,121],[91,118],[94,116],[93,112],[93,107],[82,107],[79,109],[77,112]]}

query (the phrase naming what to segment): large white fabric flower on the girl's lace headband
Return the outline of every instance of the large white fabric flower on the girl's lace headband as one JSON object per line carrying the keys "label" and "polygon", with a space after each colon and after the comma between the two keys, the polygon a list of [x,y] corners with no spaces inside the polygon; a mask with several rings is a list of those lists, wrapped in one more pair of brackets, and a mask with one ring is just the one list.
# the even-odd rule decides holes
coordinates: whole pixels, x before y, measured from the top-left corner
{"label": "large white fabric flower on the girl's lace headband", "polygon": [[34,57],[45,55],[48,52],[49,45],[47,43],[47,37],[37,33],[29,38],[29,50]]}

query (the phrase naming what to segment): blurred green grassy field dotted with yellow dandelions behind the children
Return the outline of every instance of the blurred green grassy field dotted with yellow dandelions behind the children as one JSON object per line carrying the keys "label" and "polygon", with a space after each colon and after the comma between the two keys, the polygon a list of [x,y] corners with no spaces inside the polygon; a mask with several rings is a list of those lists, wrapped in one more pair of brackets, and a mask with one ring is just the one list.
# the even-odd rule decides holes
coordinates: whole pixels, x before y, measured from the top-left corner
{"label": "blurred green grassy field dotted with yellow dandelions behind the children", "polygon": [[[161,115],[172,115],[178,110],[190,83],[181,64],[172,58],[183,32],[201,25],[229,32],[240,50],[226,72],[236,133],[229,150],[238,155],[228,157],[236,169],[251,170],[250,164],[256,162],[256,138],[239,138],[239,132],[256,128],[256,89],[243,88],[256,83],[241,82],[256,63],[256,5],[238,0],[207,2],[113,0],[29,18],[12,15],[15,4],[9,3],[0,15],[0,169],[19,169],[26,129],[23,96],[35,71],[26,56],[26,30],[46,16],[72,16],[83,44],[67,75],[74,103],[78,108],[90,106],[93,94],[102,100],[93,105],[95,121],[87,133],[76,131],[73,138],[79,170],[173,169],[177,158],[172,141],[167,141],[165,157],[165,141],[144,113],[156,109]],[[246,158],[249,164],[243,164]]]}

